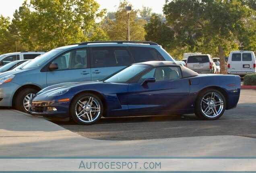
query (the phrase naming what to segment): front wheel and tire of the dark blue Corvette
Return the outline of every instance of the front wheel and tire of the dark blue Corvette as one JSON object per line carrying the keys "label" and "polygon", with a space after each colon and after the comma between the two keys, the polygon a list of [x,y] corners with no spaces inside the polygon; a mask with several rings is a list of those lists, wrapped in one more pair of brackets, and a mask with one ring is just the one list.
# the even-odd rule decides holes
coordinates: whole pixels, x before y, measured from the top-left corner
{"label": "front wheel and tire of the dark blue Corvette", "polygon": [[99,121],[103,114],[101,99],[91,93],[82,93],[70,103],[70,118],[80,125],[91,125]]}

